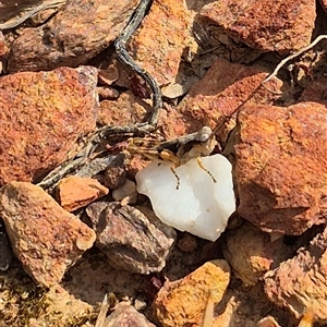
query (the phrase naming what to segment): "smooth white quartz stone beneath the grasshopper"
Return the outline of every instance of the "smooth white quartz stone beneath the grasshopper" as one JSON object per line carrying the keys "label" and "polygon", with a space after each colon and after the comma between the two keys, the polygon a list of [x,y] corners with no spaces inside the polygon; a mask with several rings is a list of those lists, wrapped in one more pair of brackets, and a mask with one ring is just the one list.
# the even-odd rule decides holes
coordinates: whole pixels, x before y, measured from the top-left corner
{"label": "smooth white quartz stone beneath the grasshopper", "polygon": [[204,171],[192,159],[170,170],[170,164],[153,161],[136,174],[137,191],[149,197],[157,217],[181,231],[215,241],[235,210],[231,164],[221,155],[201,158]]}

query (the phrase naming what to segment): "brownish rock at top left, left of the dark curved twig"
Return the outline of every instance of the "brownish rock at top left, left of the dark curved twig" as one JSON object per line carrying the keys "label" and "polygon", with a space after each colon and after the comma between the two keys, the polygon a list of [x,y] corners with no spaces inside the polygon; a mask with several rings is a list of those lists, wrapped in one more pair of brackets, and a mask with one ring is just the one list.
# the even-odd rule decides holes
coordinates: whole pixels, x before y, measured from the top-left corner
{"label": "brownish rock at top left, left of the dark curved twig", "polygon": [[124,28],[136,0],[72,0],[47,24],[24,28],[11,45],[8,70],[39,71],[86,63]]}

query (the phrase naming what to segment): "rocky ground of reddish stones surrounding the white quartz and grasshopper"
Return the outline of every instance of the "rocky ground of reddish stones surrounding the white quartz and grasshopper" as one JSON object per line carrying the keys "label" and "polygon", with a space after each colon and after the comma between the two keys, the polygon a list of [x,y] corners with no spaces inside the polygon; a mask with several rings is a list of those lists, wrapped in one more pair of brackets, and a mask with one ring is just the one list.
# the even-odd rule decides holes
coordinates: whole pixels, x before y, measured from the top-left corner
{"label": "rocky ground of reddish stones surrounding the white quartz and grasshopper", "polygon": [[327,3],[155,0],[128,45],[162,90],[153,138],[223,123],[238,208],[216,242],[155,217],[131,134],[44,182],[97,128],[148,118],[113,48],[137,1],[16,3],[0,8],[0,326],[326,326],[326,40],[267,77],[326,33]]}

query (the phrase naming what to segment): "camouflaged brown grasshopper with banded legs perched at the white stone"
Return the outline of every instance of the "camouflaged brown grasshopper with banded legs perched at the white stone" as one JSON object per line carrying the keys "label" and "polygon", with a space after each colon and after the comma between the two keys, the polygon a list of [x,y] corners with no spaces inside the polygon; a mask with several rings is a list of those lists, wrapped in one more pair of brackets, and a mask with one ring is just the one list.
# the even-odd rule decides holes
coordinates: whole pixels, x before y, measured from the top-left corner
{"label": "camouflaged brown grasshopper with banded legs perched at the white stone", "polygon": [[170,162],[170,170],[177,178],[177,190],[180,187],[180,178],[175,168],[196,158],[198,167],[203,169],[216,183],[215,177],[207,170],[201,157],[208,156],[215,148],[217,141],[210,128],[204,126],[198,132],[180,136],[170,141],[156,141],[146,138],[129,138],[128,155],[141,155],[150,160]]}

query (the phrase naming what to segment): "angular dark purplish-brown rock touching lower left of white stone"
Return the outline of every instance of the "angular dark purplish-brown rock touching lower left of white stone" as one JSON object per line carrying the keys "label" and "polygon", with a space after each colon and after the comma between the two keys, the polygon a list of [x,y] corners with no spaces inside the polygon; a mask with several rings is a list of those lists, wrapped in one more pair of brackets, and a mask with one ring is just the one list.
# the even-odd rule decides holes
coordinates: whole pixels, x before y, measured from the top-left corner
{"label": "angular dark purplish-brown rock touching lower left of white stone", "polygon": [[137,274],[160,271],[177,238],[152,210],[96,202],[86,208],[97,234],[96,246],[111,266]]}

